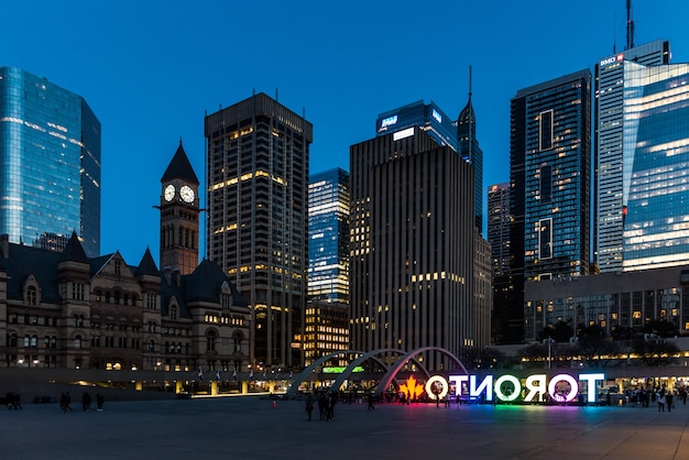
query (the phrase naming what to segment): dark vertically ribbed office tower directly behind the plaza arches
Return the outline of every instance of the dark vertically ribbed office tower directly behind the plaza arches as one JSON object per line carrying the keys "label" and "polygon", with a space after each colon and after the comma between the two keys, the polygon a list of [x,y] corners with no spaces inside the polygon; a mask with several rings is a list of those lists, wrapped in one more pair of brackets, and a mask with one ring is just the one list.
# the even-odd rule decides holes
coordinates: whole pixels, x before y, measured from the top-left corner
{"label": "dark vertically ribbed office tower directly behind the plaza arches", "polygon": [[[463,357],[486,344],[474,308],[471,165],[418,127],[352,145],[350,165],[352,348]],[[448,363],[428,352],[424,364]]]}

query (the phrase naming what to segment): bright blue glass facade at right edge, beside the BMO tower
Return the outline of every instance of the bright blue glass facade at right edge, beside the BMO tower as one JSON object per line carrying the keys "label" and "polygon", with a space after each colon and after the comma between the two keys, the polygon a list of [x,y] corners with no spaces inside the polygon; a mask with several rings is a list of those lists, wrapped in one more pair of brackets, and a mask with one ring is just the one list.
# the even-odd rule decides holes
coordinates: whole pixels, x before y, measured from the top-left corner
{"label": "bright blue glass facade at right edge, beside the BMO tower", "polygon": [[624,271],[689,263],[689,64],[624,63]]}

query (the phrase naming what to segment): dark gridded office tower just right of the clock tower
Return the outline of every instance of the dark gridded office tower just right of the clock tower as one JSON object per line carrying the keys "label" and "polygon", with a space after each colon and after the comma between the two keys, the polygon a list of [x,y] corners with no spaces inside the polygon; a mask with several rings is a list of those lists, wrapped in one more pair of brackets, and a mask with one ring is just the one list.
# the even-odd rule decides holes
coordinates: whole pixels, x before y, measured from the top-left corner
{"label": "dark gridded office tower just right of the clock tower", "polygon": [[207,251],[249,299],[259,366],[299,366],[313,125],[264,94],[206,117]]}

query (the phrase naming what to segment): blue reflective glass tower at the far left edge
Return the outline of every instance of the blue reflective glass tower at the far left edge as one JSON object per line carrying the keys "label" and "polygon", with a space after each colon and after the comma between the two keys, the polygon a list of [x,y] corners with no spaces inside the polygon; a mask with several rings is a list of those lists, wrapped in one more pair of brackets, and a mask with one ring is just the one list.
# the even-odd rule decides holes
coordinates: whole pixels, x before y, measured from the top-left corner
{"label": "blue reflective glass tower at the far left edge", "polygon": [[0,230],[62,251],[72,232],[100,254],[100,122],[80,96],[0,67]]}

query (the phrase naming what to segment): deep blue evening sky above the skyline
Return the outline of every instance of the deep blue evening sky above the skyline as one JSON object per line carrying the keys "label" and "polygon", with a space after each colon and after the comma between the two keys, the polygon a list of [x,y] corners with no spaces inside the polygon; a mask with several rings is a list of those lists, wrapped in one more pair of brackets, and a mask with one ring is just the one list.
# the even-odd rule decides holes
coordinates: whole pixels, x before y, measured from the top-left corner
{"label": "deep blue evening sky above the skyline", "polygon": [[[687,0],[633,7],[636,44],[669,40],[672,62],[689,62]],[[158,260],[153,206],[181,138],[205,182],[205,112],[277,91],[314,124],[310,172],[349,171],[380,112],[424,99],[457,117],[471,65],[486,188],[508,180],[510,99],[622,51],[625,21],[625,0],[4,1],[0,66],[96,112],[101,253],[138,264],[146,247]]]}

